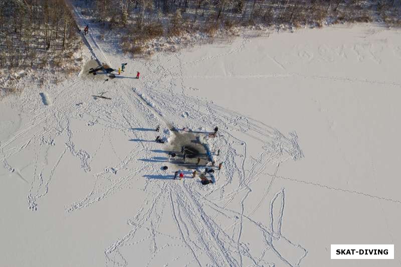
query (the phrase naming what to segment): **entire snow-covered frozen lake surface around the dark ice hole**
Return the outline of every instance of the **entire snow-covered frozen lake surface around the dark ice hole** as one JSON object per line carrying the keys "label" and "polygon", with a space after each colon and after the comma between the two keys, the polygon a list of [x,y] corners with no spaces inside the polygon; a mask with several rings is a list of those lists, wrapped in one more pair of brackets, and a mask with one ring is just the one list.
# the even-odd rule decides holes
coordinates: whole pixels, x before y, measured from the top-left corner
{"label": "entire snow-covered frozen lake surface around the dark ice hole", "polygon": [[[121,75],[0,102],[1,266],[401,266],[400,30],[243,34],[150,60],[99,35],[88,60]],[[171,126],[224,162],[214,184],[172,179]],[[331,260],[330,244],[394,259]]]}

